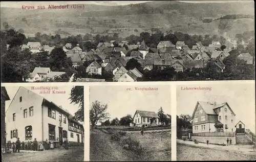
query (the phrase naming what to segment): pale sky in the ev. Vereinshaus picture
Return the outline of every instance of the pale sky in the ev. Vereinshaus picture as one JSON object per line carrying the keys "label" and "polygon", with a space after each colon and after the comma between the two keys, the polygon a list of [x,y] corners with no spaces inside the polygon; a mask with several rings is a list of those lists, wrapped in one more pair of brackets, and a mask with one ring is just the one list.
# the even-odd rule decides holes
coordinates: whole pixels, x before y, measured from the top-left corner
{"label": "pale sky in the ev. Vereinshaus picture", "polygon": [[[92,102],[98,100],[101,104],[108,104],[110,118],[125,117],[131,114],[132,117],[136,110],[158,112],[160,107],[164,113],[170,112],[170,86],[155,86],[156,91],[136,91],[135,87],[149,86],[90,86],[90,107]],[[131,88],[132,91],[126,90]],[[100,124],[100,123],[98,123]]]}

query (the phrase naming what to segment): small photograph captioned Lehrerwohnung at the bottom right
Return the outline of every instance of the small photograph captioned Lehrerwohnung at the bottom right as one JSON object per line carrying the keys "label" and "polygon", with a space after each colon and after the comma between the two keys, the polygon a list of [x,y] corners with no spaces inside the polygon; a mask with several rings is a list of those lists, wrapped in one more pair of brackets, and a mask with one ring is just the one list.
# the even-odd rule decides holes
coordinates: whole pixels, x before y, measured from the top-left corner
{"label": "small photograph captioned Lehrerwohnung at the bottom right", "polygon": [[177,86],[177,160],[255,160],[254,92],[247,81]]}

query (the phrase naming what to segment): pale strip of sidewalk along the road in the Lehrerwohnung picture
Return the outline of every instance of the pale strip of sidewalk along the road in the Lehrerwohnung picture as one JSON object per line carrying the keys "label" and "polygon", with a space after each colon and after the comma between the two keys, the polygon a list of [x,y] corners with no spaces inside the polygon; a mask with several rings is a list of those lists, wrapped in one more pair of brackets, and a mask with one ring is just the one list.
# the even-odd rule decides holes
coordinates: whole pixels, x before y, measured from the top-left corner
{"label": "pale strip of sidewalk along the road in the Lehrerwohnung picture", "polygon": [[220,145],[212,145],[212,144],[204,144],[204,143],[198,143],[195,144],[194,141],[183,141],[177,139],[177,143],[179,144],[185,144],[190,145],[194,147],[200,147],[200,148],[210,148],[210,149],[217,149],[217,150],[223,150],[223,151],[239,151],[244,152],[246,154],[255,154],[253,150],[252,145],[228,145],[228,146],[220,146]]}

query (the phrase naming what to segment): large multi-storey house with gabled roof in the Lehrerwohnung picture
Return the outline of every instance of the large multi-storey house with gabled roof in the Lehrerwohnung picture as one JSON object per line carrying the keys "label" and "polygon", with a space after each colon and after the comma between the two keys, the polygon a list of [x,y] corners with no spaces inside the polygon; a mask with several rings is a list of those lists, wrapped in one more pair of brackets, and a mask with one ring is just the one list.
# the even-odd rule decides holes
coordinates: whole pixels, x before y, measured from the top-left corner
{"label": "large multi-storey house with gabled roof in the Lehrerwohnung picture", "polygon": [[236,114],[227,102],[198,101],[191,116],[193,133],[201,132],[234,132]]}

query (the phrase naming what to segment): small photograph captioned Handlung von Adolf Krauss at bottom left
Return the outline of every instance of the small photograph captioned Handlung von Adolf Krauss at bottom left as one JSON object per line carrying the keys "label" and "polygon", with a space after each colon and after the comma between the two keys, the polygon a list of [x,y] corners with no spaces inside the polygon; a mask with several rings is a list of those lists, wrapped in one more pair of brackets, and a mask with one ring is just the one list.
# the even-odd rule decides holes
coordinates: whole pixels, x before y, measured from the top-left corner
{"label": "small photograph captioned Handlung von Adolf Krauss at bottom left", "polygon": [[6,86],[1,102],[2,161],[84,161],[83,86]]}

